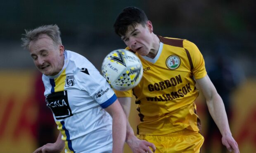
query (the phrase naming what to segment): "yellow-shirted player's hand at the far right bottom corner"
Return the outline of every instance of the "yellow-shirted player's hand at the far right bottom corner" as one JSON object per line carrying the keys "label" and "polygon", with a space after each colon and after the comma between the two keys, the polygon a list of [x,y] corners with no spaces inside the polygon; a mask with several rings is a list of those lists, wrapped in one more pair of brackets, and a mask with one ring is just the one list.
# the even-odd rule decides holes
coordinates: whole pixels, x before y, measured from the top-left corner
{"label": "yellow-shirted player's hand at the far right bottom corner", "polygon": [[229,152],[239,153],[237,142],[232,137],[231,133],[222,136],[222,144],[227,147]]}

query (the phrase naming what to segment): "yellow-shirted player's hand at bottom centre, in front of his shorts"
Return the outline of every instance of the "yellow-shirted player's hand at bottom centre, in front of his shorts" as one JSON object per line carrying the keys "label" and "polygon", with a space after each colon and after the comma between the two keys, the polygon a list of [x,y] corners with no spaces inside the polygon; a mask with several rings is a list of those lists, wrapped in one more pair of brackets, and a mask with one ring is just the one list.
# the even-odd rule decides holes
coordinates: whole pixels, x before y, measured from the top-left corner
{"label": "yellow-shirted player's hand at bottom centre, in front of his shorts", "polygon": [[[137,137],[133,137],[133,139],[129,140],[127,144],[128,146],[130,146],[133,153],[153,153],[156,151],[156,147],[154,144],[145,140],[140,140]],[[149,147],[152,149],[150,149]]]}

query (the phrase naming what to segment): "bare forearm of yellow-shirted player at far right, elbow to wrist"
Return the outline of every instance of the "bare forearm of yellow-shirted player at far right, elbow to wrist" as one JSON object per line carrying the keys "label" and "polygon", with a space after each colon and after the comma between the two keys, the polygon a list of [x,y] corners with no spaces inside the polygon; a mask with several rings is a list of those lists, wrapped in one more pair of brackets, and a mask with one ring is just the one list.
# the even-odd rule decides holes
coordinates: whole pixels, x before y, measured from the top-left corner
{"label": "bare forearm of yellow-shirted player at far right, elbow to wrist", "polygon": [[209,112],[218,126],[220,133],[222,135],[231,134],[230,127],[228,124],[228,117],[225,111],[225,106],[223,104],[223,100],[220,95],[215,94],[211,98],[211,100],[206,101]]}

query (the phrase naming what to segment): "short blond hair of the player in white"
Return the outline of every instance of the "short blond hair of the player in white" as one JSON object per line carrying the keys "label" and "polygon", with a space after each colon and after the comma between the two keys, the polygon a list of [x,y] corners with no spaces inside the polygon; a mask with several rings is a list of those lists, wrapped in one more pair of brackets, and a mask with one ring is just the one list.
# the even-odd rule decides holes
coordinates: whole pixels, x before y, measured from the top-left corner
{"label": "short blond hair of the player in white", "polygon": [[40,35],[46,34],[48,35],[54,42],[55,45],[62,45],[62,39],[60,37],[59,27],[55,25],[44,25],[37,27],[32,30],[26,30],[24,37],[21,38],[22,44],[21,46],[28,50],[29,44],[31,41],[37,40]]}

